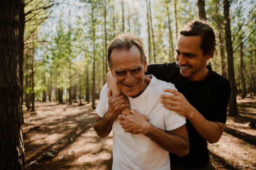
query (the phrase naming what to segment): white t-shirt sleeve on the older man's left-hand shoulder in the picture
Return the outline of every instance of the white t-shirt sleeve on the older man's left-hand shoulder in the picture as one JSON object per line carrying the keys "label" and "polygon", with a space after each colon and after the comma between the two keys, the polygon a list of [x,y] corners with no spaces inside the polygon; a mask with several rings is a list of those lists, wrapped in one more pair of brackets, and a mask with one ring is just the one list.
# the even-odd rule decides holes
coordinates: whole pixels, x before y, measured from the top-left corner
{"label": "white t-shirt sleeve on the older man's left-hand shoulder in the picture", "polygon": [[108,86],[105,84],[100,91],[100,101],[96,107],[96,112],[100,117],[105,115],[108,110]]}

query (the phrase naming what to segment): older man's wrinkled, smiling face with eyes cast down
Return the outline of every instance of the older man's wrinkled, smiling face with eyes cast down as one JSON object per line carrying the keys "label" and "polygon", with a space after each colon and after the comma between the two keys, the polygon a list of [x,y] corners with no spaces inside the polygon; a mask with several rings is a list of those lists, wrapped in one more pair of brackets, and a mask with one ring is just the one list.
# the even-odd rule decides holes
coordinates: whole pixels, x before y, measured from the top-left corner
{"label": "older man's wrinkled, smiling face with eyes cast down", "polygon": [[137,97],[145,90],[144,79],[147,62],[141,62],[141,53],[133,45],[130,50],[113,49],[110,55],[113,69],[110,68],[112,76],[115,76],[120,89],[126,96]]}

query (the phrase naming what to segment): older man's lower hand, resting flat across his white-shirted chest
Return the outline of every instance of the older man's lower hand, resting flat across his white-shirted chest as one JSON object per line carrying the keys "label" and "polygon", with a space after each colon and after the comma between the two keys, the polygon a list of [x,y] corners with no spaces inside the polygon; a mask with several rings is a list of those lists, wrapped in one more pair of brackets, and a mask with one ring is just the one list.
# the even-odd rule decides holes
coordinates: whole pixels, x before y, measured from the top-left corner
{"label": "older man's lower hand, resting flat across his white-shirted chest", "polygon": [[151,123],[148,122],[149,118],[136,110],[131,110],[133,115],[119,115],[120,125],[125,132],[133,134],[144,134]]}

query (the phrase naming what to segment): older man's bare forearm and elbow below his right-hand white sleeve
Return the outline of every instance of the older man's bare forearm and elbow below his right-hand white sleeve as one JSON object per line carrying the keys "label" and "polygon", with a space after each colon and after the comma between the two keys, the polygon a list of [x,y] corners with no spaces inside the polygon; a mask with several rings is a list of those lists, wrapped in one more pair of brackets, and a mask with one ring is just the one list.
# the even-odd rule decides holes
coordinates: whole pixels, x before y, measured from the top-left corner
{"label": "older man's bare forearm and elbow below his right-hand white sleeve", "polygon": [[185,128],[186,130],[186,137],[183,137],[182,135],[179,134],[163,132],[162,130],[154,127],[154,125],[152,125],[151,123],[149,124],[148,128],[146,128],[146,130],[143,132],[143,135],[146,135],[148,138],[151,138],[159,146],[169,151],[170,153],[174,153],[179,156],[185,156],[188,154],[189,140],[185,125],[182,128]]}

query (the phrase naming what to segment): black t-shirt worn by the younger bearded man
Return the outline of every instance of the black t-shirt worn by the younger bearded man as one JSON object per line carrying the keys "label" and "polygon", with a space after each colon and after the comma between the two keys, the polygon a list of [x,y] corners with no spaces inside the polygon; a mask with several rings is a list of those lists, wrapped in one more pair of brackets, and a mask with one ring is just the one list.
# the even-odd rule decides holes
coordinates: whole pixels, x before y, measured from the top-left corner
{"label": "black t-shirt worn by the younger bearded man", "polygon": [[[148,65],[145,73],[153,74],[159,80],[172,82],[205,119],[225,123],[230,84],[227,79],[212,71],[210,66],[207,66],[207,69],[209,70],[207,78],[198,82],[191,82],[183,77],[176,62]],[[202,168],[210,159],[207,141],[197,133],[188,119],[186,127],[190,142],[189,154],[179,157],[169,153],[170,162],[172,165],[183,168]]]}

